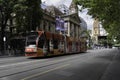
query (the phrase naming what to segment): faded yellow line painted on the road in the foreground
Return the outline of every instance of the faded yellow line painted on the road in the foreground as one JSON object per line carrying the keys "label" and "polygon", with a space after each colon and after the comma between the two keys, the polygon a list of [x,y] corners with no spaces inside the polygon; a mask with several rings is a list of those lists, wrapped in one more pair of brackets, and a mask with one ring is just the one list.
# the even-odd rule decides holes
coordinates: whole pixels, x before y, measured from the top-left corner
{"label": "faded yellow line painted on the road in the foreground", "polygon": [[40,76],[40,75],[49,73],[49,72],[51,72],[51,71],[55,71],[55,70],[57,70],[57,69],[61,69],[61,68],[66,67],[66,66],[68,66],[68,65],[70,65],[70,64],[62,65],[62,66],[56,67],[56,68],[54,68],[54,69],[49,69],[49,70],[47,70],[47,71],[44,71],[44,72],[41,72],[41,73],[38,73],[38,74],[35,74],[35,75],[28,76],[28,77],[23,78],[23,79],[21,79],[21,80],[29,80],[29,79],[31,79],[31,78],[34,78],[34,77],[37,77],[37,76]]}

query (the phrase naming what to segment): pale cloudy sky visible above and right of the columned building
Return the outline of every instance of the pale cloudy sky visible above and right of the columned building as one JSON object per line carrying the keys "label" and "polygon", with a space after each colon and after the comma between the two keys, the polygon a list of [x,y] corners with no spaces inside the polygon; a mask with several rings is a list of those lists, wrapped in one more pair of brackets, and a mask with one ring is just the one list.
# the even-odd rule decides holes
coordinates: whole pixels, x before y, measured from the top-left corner
{"label": "pale cloudy sky visible above and right of the columned building", "polygon": [[[42,0],[42,2],[45,2],[47,5],[60,5],[60,4],[65,4],[67,7],[71,4],[72,0]],[[93,19],[91,18],[90,15],[87,15],[87,9],[82,10],[82,12],[79,13],[79,16],[82,17],[86,23],[87,23],[87,28],[92,30],[93,27]]]}

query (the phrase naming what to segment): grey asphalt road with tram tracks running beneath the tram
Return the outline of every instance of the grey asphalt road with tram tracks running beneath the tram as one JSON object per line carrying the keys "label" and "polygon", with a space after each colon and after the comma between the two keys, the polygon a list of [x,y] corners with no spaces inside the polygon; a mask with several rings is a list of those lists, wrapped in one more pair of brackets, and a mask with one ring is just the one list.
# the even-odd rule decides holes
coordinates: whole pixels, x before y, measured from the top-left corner
{"label": "grey asphalt road with tram tracks running beneath the tram", "polygon": [[0,80],[120,80],[117,49],[51,58],[0,58]]}

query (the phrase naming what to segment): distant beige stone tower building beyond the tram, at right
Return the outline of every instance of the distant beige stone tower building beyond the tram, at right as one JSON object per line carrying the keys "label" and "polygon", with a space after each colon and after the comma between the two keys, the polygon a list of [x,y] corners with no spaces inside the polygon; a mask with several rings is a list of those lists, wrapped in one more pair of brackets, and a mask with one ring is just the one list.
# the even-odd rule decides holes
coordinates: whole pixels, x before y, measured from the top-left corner
{"label": "distant beige stone tower building beyond the tram, at right", "polygon": [[103,45],[105,47],[107,45],[107,32],[102,27],[98,19],[95,19],[93,23],[92,41],[95,45]]}

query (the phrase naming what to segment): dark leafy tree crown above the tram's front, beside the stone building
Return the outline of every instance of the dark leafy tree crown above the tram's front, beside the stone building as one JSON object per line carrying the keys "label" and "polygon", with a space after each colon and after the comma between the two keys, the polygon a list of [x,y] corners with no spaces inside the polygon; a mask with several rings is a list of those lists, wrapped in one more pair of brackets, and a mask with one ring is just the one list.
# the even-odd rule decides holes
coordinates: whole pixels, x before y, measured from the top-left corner
{"label": "dark leafy tree crown above the tram's front, beside the stone building", "polygon": [[15,6],[18,32],[36,30],[42,17],[41,0],[18,0]]}

